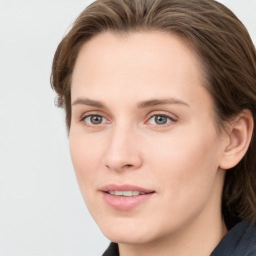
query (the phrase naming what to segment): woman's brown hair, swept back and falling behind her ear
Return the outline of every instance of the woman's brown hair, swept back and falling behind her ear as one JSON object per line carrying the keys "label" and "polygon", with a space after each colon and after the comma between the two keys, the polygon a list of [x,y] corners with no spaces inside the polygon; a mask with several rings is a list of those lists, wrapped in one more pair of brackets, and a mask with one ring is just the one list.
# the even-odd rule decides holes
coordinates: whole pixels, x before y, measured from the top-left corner
{"label": "woman's brown hair, swept back and falling behind her ear", "polygon": [[[103,32],[161,31],[174,33],[196,49],[204,68],[219,130],[247,108],[256,123],[256,52],[240,20],[214,0],[97,0],[85,8],[59,43],[52,64],[56,103],[71,120],[70,83],[81,45]],[[239,219],[256,223],[255,126],[243,159],[227,170],[223,215],[227,227]]]}

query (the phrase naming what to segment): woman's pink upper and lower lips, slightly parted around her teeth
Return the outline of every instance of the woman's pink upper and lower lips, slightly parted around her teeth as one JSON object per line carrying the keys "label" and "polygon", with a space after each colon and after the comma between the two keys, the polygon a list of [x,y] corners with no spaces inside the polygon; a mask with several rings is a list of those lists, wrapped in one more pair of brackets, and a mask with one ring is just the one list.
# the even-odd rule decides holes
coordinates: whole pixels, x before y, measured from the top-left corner
{"label": "woman's pink upper and lower lips, slightly parted around her teeth", "polygon": [[[108,204],[108,206],[119,209],[119,210],[131,210],[141,203],[144,203],[148,200],[154,193],[154,190],[146,189],[143,187],[123,184],[123,185],[116,185],[116,184],[108,184],[100,189],[101,195],[103,200]],[[137,190],[140,192],[145,192],[145,194],[133,195],[133,196],[117,196],[108,193],[109,190],[117,190],[117,191],[130,191],[130,190]]]}

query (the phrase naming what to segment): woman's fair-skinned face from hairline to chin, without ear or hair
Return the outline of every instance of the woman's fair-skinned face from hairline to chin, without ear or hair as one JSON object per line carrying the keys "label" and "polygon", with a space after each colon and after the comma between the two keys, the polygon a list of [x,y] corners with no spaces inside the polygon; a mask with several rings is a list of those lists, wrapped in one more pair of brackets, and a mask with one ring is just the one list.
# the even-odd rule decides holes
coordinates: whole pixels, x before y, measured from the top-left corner
{"label": "woman's fair-skinned face from hairline to chin, without ear or hair", "polygon": [[221,215],[223,143],[198,68],[170,34],[105,32],[82,46],[70,153],[84,201],[109,239],[146,243]]}

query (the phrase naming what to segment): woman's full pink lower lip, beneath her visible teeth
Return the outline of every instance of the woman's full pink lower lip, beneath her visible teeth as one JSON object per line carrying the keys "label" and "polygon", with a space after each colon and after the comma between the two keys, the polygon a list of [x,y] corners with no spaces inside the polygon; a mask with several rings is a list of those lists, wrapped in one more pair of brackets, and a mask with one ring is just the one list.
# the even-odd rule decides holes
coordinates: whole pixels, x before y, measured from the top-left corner
{"label": "woman's full pink lower lip, beneath her visible teeth", "polygon": [[131,210],[140,203],[148,200],[154,193],[139,194],[133,196],[118,196],[102,191],[105,202],[114,209]]}

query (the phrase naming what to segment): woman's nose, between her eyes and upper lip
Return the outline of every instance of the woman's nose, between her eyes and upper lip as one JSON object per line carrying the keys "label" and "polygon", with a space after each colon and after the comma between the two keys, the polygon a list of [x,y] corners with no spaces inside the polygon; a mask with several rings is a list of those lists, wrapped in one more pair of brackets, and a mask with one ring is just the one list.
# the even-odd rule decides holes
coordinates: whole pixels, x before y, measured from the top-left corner
{"label": "woman's nose, between her eyes and upper lip", "polygon": [[133,170],[142,165],[142,154],[132,128],[116,126],[111,130],[102,163],[114,171]]}

